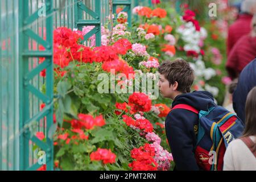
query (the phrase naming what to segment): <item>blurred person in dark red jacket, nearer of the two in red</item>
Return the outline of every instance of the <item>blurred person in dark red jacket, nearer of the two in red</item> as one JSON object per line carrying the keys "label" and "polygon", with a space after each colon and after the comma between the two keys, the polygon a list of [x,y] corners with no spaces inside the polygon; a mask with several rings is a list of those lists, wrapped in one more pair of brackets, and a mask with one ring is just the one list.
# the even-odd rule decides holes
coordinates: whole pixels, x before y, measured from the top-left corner
{"label": "blurred person in dark red jacket, nearer of the two in red", "polygon": [[[256,3],[256,0],[254,0]],[[232,48],[226,63],[229,76],[234,79],[239,76],[242,69],[256,56],[256,14],[251,20],[251,32],[242,36]]]}

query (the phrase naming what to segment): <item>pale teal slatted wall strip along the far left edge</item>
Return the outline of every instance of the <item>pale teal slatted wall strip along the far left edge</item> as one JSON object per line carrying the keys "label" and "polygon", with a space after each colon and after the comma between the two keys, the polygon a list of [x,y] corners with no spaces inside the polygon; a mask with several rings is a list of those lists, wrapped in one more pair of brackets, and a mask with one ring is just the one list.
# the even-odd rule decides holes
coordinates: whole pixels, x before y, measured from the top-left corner
{"label": "pale teal slatted wall strip along the far left edge", "polygon": [[17,3],[0,1],[0,171],[19,169]]}

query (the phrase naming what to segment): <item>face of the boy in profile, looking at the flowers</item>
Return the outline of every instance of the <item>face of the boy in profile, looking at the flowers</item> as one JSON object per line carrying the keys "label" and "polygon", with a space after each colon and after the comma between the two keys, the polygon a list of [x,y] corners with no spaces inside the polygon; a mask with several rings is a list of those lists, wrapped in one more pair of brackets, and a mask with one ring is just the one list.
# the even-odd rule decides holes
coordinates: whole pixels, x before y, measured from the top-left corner
{"label": "face of the boy in profile, looking at the flowers", "polygon": [[172,85],[170,86],[169,81],[162,74],[160,74],[158,86],[163,97],[172,98],[174,93]]}

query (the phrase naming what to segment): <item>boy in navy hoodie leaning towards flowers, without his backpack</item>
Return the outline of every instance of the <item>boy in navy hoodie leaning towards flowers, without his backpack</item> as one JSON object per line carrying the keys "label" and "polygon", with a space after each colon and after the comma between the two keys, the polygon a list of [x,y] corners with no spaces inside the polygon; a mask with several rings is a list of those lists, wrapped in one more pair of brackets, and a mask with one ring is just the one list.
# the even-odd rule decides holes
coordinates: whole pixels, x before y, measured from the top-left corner
{"label": "boy in navy hoodie leaning towards flowers, without his backpack", "polygon": [[[214,104],[213,95],[206,91],[191,91],[194,73],[187,61],[163,61],[158,68],[159,90],[173,100],[172,107],[187,104],[197,110],[207,110]],[[198,114],[185,109],[171,110],[166,117],[166,134],[176,170],[199,170],[195,158]]]}

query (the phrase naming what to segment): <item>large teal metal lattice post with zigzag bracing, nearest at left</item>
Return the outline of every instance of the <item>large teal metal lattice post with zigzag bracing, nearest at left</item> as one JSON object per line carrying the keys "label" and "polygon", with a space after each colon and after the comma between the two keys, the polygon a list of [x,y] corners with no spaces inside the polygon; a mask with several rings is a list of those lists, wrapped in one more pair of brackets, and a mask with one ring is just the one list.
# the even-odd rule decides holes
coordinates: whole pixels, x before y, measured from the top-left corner
{"label": "large teal metal lattice post with zigzag bracing, nearest at left", "polygon": [[[52,61],[52,34],[53,34],[53,12],[52,0],[46,0],[46,40],[43,40],[29,25],[39,18],[38,11],[29,15],[29,2],[19,1],[19,29],[22,30],[19,36],[19,108],[20,108],[20,170],[36,170],[40,167],[38,163],[30,164],[30,140],[46,152],[47,170],[53,170],[53,141],[49,136],[49,131],[53,126],[53,61]],[[38,44],[46,48],[46,51],[30,51],[28,47],[29,39],[35,40]],[[46,60],[36,68],[29,70],[28,59],[30,57],[45,57]],[[46,94],[35,88],[30,81],[41,71],[46,69]],[[35,97],[46,103],[46,107],[34,116],[30,116],[30,97],[32,93]],[[32,122],[39,122],[46,117],[46,143],[39,140],[31,133],[28,126]],[[23,132],[24,131],[24,132]],[[50,137],[50,138],[49,138]]]}

